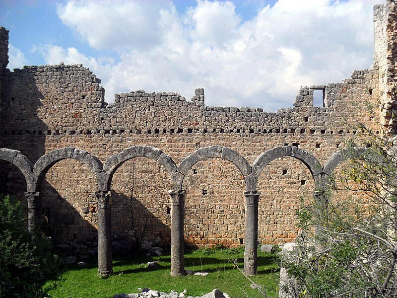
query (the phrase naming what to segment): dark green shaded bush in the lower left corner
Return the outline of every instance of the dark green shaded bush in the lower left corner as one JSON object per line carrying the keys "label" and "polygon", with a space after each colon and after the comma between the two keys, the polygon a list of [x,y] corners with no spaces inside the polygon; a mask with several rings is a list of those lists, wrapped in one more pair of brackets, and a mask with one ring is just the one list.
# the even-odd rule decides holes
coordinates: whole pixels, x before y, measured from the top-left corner
{"label": "dark green shaded bush in the lower left corner", "polygon": [[41,233],[32,239],[20,202],[12,196],[0,195],[0,252],[1,293],[6,289],[35,289],[58,273],[58,257],[53,254],[50,239]]}

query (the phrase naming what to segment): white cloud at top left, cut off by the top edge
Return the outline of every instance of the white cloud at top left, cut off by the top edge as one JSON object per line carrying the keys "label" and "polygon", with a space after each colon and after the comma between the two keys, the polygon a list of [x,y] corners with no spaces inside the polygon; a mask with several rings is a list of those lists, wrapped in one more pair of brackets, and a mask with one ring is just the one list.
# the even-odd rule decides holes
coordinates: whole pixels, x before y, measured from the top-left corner
{"label": "white cloud at top left, cut off by the top edge", "polygon": [[159,43],[159,11],[165,1],[74,1],[57,6],[61,20],[95,49],[125,50]]}

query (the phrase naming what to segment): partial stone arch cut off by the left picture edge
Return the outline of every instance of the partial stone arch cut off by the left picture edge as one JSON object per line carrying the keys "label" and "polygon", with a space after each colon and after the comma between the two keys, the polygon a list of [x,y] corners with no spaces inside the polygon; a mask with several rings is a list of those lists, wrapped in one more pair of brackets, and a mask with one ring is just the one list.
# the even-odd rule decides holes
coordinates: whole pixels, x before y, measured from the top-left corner
{"label": "partial stone arch cut off by the left picture edge", "polygon": [[11,162],[15,165],[23,174],[26,180],[27,191],[34,192],[37,177],[33,173],[32,162],[23,155],[20,151],[1,148],[0,149],[0,159]]}

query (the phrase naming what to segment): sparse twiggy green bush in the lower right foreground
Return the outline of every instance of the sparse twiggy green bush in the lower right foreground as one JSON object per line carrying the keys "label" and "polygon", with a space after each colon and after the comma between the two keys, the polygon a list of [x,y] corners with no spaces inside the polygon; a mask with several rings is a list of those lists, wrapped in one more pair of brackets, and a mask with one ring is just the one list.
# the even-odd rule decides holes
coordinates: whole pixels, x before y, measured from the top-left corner
{"label": "sparse twiggy green bush in the lower right foreground", "polygon": [[313,204],[302,200],[303,233],[282,264],[292,297],[397,297],[397,139],[360,128],[340,176]]}

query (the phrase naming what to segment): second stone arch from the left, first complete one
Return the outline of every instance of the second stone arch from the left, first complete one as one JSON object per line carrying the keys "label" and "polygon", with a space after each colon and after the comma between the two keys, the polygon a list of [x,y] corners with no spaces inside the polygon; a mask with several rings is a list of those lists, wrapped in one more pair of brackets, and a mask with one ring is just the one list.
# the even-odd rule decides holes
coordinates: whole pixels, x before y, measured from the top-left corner
{"label": "second stone arch from the left, first complete one", "polygon": [[37,177],[34,191],[39,191],[42,179],[46,175],[47,171],[58,161],[66,158],[72,158],[84,162],[95,174],[97,180],[99,179],[99,174],[102,172],[103,165],[95,155],[75,147],[66,147],[44,154],[36,161],[33,166],[33,172]]}

